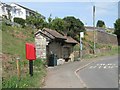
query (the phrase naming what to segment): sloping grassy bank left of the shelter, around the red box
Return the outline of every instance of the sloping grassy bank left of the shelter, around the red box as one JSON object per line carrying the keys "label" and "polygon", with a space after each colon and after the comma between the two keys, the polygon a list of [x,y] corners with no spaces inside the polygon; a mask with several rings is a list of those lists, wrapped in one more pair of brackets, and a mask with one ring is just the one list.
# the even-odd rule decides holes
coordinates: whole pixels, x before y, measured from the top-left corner
{"label": "sloping grassy bank left of the shelter, around the red box", "polygon": [[[41,87],[46,75],[45,62],[34,61],[34,75],[29,75],[29,62],[25,56],[25,43],[34,43],[35,30],[2,24],[2,88]],[[16,59],[20,57],[20,80],[17,76]]]}

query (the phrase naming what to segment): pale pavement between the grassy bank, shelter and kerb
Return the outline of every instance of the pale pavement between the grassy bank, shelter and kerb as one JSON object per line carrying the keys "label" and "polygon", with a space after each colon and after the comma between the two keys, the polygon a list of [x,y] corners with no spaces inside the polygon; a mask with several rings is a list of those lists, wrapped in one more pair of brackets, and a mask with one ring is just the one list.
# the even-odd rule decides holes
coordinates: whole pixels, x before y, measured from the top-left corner
{"label": "pale pavement between the grassy bank, shelter and kerb", "polygon": [[83,88],[75,74],[75,70],[87,64],[88,61],[69,62],[61,66],[49,67],[48,75],[43,88]]}

